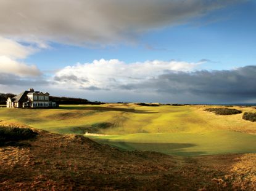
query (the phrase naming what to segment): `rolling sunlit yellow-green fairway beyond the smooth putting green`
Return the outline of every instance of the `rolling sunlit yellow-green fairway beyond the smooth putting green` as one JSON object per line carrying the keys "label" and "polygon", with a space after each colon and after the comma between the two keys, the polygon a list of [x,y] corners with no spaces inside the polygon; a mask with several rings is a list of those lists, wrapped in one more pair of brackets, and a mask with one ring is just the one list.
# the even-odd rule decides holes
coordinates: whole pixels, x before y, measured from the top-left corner
{"label": "rolling sunlit yellow-green fairway beyond the smooth putting green", "polygon": [[[101,131],[105,134],[200,133],[227,129],[256,133],[255,123],[243,120],[242,114],[215,115],[204,111],[208,107],[210,106],[147,107],[134,104],[104,104],[60,106],[59,109],[1,108],[0,120],[25,123],[31,127],[60,133],[62,129],[101,122],[114,124],[114,127]],[[252,107],[239,109],[246,112],[256,111]]]}

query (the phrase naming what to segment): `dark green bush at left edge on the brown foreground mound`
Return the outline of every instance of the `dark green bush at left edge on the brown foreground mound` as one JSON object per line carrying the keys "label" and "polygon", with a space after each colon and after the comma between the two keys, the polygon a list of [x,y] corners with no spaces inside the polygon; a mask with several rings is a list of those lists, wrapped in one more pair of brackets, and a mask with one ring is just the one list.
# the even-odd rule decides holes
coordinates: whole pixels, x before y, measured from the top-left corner
{"label": "dark green bush at left edge on the brown foreground mound", "polygon": [[19,146],[16,141],[22,141],[36,136],[30,128],[0,126],[0,146]]}

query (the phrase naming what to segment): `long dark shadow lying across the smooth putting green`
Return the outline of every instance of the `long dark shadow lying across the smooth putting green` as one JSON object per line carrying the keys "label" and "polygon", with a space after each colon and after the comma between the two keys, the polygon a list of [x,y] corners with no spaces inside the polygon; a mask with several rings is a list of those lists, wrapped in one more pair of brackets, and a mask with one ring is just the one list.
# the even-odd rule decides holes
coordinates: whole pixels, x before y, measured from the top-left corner
{"label": "long dark shadow lying across the smooth putting green", "polygon": [[159,142],[116,142],[102,139],[94,139],[94,141],[102,144],[109,144],[110,146],[117,147],[121,150],[142,150],[142,151],[155,151],[162,152],[168,155],[181,155],[181,156],[196,156],[206,154],[200,151],[186,151],[184,149],[195,147],[197,144],[192,143],[159,143]]}

